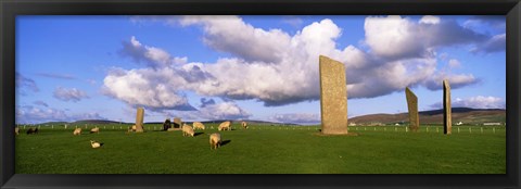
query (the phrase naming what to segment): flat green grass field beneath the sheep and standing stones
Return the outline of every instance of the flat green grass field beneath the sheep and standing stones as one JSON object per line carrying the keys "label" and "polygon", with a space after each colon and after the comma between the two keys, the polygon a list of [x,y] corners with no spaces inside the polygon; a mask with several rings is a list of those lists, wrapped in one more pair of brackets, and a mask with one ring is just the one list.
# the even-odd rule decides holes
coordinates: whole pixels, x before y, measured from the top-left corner
{"label": "flat green grass field beneath the sheep and standing stones", "polygon": [[[350,127],[359,136],[317,136],[318,126],[251,126],[220,131],[225,144],[211,150],[208,135],[181,131],[126,134],[119,125],[100,134],[41,127],[15,139],[16,174],[505,174],[505,127]],[[206,125],[209,127],[211,125]],[[114,129],[113,129],[114,127]],[[160,126],[155,126],[160,129]],[[436,129],[437,128],[437,129]],[[204,133],[204,134],[203,134]],[[91,149],[89,140],[104,143]]]}

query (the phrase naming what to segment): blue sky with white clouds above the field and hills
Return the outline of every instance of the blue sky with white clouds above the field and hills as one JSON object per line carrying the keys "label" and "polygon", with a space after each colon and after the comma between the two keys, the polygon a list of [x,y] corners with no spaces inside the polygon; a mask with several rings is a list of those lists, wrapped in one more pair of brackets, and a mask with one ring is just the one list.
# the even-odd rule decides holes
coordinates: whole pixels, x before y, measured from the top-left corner
{"label": "blue sky with white clouds above the field and hills", "polygon": [[318,58],[345,64],[348,117],[506,109],[504,16],[16,17],[16,123],[320,122]]}

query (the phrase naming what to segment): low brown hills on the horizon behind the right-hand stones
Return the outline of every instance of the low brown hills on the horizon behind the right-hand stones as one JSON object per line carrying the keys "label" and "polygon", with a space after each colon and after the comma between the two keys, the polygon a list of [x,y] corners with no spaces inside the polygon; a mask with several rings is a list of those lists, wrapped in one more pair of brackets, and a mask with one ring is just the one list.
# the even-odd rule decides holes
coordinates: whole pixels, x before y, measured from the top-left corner
{"label": "low brown hills on the horizon behind the right-hand stones", "polygon": [[[443,110],[421,111],[420,124],[443,124]],[[506,111],[501,109],[469,109],[453,108],[453,124],[462,122],[466,125],[475,125],[483,123],[505,123]],[[350,123],[357,125],[378,125],[378,124],[404,124],[409,122],[408,113],[398,114],[370,114],[357,116],[348,119]]]}

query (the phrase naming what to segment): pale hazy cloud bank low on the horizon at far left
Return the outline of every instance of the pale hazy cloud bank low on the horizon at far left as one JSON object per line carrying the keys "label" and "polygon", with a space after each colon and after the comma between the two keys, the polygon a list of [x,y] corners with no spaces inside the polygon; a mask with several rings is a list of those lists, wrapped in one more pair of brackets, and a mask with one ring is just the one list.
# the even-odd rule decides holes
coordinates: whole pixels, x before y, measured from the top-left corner
{"label": "pale hazy cloud bank low on the horizon at far left", "polygon": [[74,122],[79,119],[106,119],[98,113],[68,114],[64,110],[52,108],[16,106],[16,124],[37,124],[45,122]]}

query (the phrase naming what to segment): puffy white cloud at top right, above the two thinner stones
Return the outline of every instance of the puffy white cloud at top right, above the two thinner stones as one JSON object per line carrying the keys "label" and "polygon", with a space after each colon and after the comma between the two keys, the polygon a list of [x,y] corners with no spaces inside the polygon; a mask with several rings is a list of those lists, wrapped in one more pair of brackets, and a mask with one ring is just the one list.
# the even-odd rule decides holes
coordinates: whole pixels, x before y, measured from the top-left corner
{"label": "puffy white cloud at top right, above the two thinner stones", "polygon": [[371,51],[386,59],[421,58],[432,53],[433,48],[479,43],[487,39],[487,36],[463,28],[456,21],[432,17],[422,17],[416,23],[402,16],[369,16],[364,28],[365,41]]}

